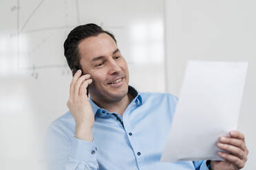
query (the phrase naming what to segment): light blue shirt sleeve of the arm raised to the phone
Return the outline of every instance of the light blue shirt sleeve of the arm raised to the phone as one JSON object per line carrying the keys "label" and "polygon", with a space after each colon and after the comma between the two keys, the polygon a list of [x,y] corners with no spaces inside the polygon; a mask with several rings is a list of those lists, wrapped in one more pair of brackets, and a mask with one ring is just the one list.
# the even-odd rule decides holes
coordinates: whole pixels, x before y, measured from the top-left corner
{"label": "light blue shirt sleeve of the arm raised to the phone", "polygon": [[46,136],[48,170],[96,170],[96,146],[76,137],[69,138],[58,127],[50,126]]}

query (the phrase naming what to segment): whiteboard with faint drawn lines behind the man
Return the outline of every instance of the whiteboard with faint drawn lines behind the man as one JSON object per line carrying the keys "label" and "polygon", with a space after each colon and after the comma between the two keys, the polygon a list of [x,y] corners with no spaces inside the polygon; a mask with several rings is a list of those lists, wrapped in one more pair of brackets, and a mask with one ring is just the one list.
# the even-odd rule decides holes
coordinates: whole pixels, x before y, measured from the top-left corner
{"label": "whiteboard with faint drawn lines behind the man", "polygon": [[2,0],[0,14],[0,169],[43,169],[46,127],[67,111],[63,42],[77,25],[114,33],[132,86],[165,91],[163,1]]}

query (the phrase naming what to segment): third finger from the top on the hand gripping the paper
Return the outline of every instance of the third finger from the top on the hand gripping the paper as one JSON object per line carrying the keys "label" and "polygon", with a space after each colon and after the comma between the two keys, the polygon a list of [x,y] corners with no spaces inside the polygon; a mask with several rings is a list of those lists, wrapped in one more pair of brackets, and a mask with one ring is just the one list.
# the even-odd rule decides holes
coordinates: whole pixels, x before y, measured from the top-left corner
{"label": "third finger from the top on the hand gripping the paper", "polygon": [[242,160],[246,158],[245,152],[239,147],[235,147],[233,145],[227,145],[224,143],[217,143],[217,147],[219,147],[220,149],[223,149],[224,151],[228,151],[230,154],[233,154],[234,156],[237,156]]}

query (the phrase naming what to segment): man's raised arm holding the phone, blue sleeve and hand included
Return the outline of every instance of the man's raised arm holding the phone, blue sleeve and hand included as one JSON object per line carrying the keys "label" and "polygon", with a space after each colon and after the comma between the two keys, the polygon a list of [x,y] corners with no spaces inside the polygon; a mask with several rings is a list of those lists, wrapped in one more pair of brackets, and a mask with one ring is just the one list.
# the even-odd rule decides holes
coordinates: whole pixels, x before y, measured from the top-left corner
{"label": "man's raised arm holding the phone, blue sleeve and hand included", "polygon": [[92,127],[94,112],[87,97],[87,86],[92,83],[89,75],[77,71],[70,84],[70,109],[76,130],[74,137],[66,135],[61,125],[50,125],[47,132],[47,162],[50,170],[98,169],[96,147],[94,146]]}

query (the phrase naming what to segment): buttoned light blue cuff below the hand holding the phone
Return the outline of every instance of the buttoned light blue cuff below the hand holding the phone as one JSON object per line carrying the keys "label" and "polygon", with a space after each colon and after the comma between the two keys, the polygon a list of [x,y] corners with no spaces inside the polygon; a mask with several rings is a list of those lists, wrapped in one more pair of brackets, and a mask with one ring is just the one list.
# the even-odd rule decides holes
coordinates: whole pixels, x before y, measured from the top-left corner
{"label": "buttoned light blue cuff below the hand holding the phone", "polygon": [[83,141],[76,137],[72,138],[70,158],[79,162],[96,162],[96,151],[94,142]]}

